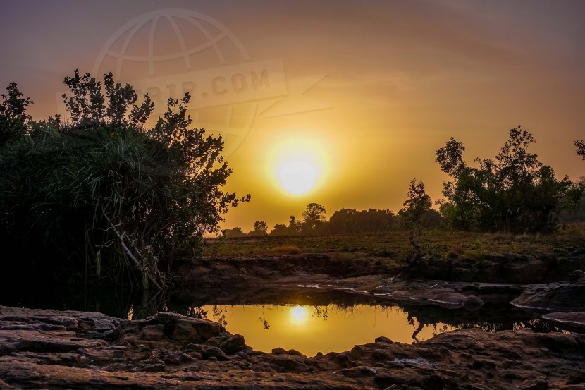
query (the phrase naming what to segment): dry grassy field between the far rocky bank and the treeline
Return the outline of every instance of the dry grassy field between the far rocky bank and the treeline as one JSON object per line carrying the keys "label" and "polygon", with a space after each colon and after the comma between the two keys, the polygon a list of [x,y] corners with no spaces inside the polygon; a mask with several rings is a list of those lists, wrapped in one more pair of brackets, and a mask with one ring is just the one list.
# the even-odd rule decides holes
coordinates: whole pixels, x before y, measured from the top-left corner
{"label": "dry grassy field between the far rocky bank and the treeline", "polygon": [[[204,256],[233,257],[296,253],[330,253],[352,260],[401,263],[412,252],[406,231],[343,236],[206,238]],[[424,231],[419,244],[427,255],[481,258],[484,255],[553,255],[562,257],[585,247],[585,224],[572,224],[550,234]]]}

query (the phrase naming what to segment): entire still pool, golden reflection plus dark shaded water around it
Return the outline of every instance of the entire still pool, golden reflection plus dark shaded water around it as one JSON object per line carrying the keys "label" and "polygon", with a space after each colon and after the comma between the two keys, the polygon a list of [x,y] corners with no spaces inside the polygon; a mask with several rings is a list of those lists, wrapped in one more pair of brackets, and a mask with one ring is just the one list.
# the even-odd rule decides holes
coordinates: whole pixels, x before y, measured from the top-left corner
{"label": "entire still pool, golden reflection plus dark shaded water around it", "polygon": [[304,355],[348,351],[356,344],[386,336],[417,343],[444,331],[531,328],[562,331],[540,315],[505,303],[479,310],[436,305],[398,306],[374,295],[356,295],[320,288],[189,288],[144,295],[140,291],[2,291],[0,305],[54,310],[102,312],[111,317],[143,319],[156,312],[176,312],[221,323],[244,336],[255,351],[281,347]]}

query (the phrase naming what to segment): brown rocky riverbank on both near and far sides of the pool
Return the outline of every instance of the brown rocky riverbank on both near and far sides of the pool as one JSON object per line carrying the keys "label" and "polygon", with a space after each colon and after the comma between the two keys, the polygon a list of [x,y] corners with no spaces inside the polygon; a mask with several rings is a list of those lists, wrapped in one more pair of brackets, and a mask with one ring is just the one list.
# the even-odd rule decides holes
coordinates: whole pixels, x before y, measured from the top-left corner
{"label": "brown rocky riverbank on both near and far sides of the pool", "polygon": [[[271,240],[261,241],[266,248],[257,254],[209,255],[208,248],[204,257],[173,264],[169,282],[186,292],[177,298],[184,307],[206,300],[327,305],[343,295],[344,303],[407,307],[419,324],[465,324],[505,315],[495,307],[512,302],[529,313],[524,322],[537,318],[546,329],[460,329],[412,344],[374,337],[348,351],[307,356],[254,351],[221,324],[168,312],[167,304],[141,313],[123,307],[118,317],[0,306],[0,389],[582,389],[579,237],[522,238],[524,252],[426,254],[414,262],[395,260],[391,247],[372,257],[367,248],[381,245],[375,240],[364,242],[363,252],[298,252]],[[242,243],[257,245],[215,245]],[[357,240],[343,245],[354,248]]]}

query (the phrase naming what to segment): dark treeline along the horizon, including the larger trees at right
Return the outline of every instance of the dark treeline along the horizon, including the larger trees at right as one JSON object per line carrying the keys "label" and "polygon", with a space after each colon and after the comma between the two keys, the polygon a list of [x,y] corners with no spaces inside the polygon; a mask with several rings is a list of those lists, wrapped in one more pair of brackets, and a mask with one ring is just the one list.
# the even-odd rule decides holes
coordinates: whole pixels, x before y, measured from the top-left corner
{"label": "dark treeline along the horizon, including the larger trees at right", "polygon": [[[474,165],[463,158],[465,147],[455,138],[436,151],[436,162],[450,181],[443,183],[443,198],[431,209],[424,183],[413,179],[404,207],[390,210],[340,209],[328,221],[325,207],[311,203],[297,221],[277,224],[268,232],[264,221],[254,230],[224,230],[223,236],[297,236],[335,233],[370,233],[405,229],[416,240],[421,228],[446,226],[467,231],[535,233],[556,231],[560,224],[585,221],[585,181],[558,178],[555,170],[529,152],[536,142],[521,126],[509,131],[509,138],[493,159],[476,157]],[[585,159],[585,141],[574,142],[577,155]]]}

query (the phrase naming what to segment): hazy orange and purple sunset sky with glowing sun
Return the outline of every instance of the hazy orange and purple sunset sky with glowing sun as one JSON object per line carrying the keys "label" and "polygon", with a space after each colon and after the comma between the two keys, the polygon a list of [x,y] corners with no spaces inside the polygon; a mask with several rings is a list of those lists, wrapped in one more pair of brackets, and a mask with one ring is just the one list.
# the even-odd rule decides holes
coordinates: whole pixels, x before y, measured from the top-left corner
{"label": "hazy orange and purple sunset sky with glowing sun", "polygon": [[6,1],[0,83],[35,119],[63,112],[63,78],[111,71],[155,114],[191,92],[221,134],[225,189],[252,200],[222,228],[335,210],[398,212],[412,178],[433,200],[435,152],[493,158],[521,125],[559,177],[585,176],[585,2]]}

